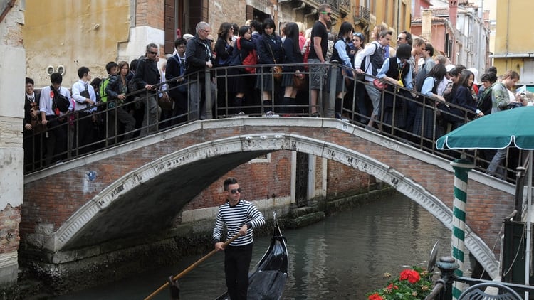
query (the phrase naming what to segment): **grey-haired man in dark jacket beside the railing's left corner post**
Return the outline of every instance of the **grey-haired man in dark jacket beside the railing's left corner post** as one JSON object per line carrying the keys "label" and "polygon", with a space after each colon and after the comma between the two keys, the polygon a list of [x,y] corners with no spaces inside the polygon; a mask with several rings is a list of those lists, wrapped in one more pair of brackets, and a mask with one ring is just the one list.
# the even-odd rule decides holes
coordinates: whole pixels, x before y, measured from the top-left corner
{"label": "grey-haired man in dark jacket beside the railing's left corner post", "polygon": [[[205,68],[212,68],[215,60],[208,35],[211,32],[209,23],[197,24],[197,34],[187,42],[185,60],[187,69],[185,75],[192,82],[189,87],[189,119],[206,119],[206,95],[205,95]],[[198,80],[197,80],[198,78]],[[210,78],[211,81],[211,78]],[[211,105],[216,102],[215,85],[210,82]],[[211,116],[210,116],[211,117]]]}

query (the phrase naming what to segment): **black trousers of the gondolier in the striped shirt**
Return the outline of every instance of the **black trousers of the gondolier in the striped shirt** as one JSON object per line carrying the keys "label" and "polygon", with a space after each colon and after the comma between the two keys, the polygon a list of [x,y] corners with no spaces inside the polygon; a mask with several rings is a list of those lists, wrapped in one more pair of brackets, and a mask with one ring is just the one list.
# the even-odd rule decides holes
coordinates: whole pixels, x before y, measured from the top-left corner
{"label": "black trousers of the gondolier in the striped shirt", "polygon": [[252,245],[227,246],[224,250],[224,273],[231,300],[246,300]]}

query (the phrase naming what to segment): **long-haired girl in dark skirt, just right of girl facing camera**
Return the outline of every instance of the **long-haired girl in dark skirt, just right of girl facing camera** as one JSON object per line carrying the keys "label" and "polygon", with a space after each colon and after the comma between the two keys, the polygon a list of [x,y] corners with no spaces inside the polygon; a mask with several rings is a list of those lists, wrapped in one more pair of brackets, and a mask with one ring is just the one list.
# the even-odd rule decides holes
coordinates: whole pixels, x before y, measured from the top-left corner
{"label": "long-haired girl in dark skirt, just right of girl facing camera", "polygon": [[[303,56],[300,53],[299,45],[299,31],[297,23],[287,23],[286,39],[283,41],[283,50],[286,53],[285,63],[303,63]],[[297,97],[298,90],[303,87],[305,81],[305,74],[303,73],[303,65],[286,65],[283,68],[282,87],[285,87],[283,92],[283,100],[280,107],[280,112],[283,114],[290,114],[294,112],[293,107],[288,105],[295,104],[295,97]]]}

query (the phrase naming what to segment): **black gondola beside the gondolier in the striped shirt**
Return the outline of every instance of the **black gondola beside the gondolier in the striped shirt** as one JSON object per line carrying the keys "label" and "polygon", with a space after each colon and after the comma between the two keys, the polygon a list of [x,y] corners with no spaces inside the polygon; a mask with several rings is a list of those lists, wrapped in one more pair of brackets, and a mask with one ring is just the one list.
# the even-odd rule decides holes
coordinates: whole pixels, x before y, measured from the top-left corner
{"label": "black gondola beside the gondolier in the striped shirt", "polygon": [[[281,299],[283,288],[288,279],[288,248],[283,237],[276,213],[274,214],[274,232],[271,245],[248,274],[248,299]],[[216,300],[228,300],[228,292]]]}

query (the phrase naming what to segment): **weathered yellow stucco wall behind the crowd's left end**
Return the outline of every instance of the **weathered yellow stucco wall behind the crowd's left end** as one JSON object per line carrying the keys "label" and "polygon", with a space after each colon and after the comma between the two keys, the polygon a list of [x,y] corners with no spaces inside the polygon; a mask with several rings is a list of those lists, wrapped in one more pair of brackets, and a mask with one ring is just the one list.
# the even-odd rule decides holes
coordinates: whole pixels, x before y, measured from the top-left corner
{"label": "weathered yellow stucco wall behind the crowd's left end", "polygon": [[58,65],[65,67],[66,87],[78,80],[81,66],[90,68],[93,77],[105,75],[105,64],[117,60],[117,44],[128,41],[130,2],[26,0],[23,36],[28,77],[37,87],[49,85],[48,65],[56,71]]}

